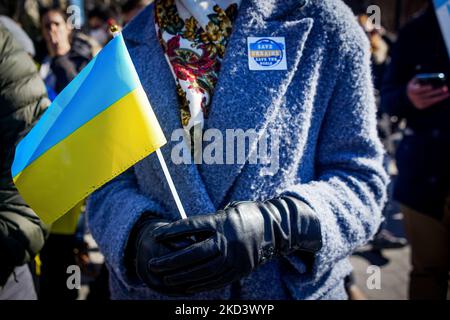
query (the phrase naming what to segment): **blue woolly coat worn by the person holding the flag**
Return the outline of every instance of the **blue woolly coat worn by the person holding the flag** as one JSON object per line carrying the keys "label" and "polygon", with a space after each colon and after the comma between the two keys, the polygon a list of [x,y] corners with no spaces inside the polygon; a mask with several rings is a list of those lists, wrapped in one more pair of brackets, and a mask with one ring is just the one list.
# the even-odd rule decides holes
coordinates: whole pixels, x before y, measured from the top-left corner
{"label": "blue woolly coat worn by the person holding the flag", "polygon": [[[243,0],[205,130],[255,129],[278,140],[270,164],[175,164],[181,128],[175,82],[158,42],[154,6],[123,34],[143,87],[169,140],[164,158],[188,216],[213,214],[229,201],[302,199],[321,222],[323,247],[312,268],[294,253],[272,259],[241,281],[242,299],[345,299],[348,256],[381,222],[387,174],[376,132],[368,41],[350,9],[336,0]],[[284,37],[287,70],[249,69],[247,37]],[[270,143],[269,143],[270,144]],[[272,145],[272,144],[270,144]],[[247,155],[256,152],[247,145]],[[276,152],[278,149],[278,152]],[[116,299],[169,298],[125,266],[130,231],[146,211],[178,219],[156,154],[88,200],[90,230],[106,257]],[[229,287],[187,299],[235,298]]]}

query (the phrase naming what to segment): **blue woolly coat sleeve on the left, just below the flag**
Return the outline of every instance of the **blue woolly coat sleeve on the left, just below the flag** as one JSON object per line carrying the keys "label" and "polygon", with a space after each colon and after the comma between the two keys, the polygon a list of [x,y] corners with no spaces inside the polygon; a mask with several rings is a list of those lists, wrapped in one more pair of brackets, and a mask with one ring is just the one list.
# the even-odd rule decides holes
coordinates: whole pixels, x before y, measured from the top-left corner
{"label": "blue woolly coat sleeve on the left, just below the flag", "polygon": [[145,212],[158,214],[162,207],[141,193],[134,168],[94,192],[87,201],[88,227],[106,263],[126,286],[142,285],[124,259],[128,238]]}

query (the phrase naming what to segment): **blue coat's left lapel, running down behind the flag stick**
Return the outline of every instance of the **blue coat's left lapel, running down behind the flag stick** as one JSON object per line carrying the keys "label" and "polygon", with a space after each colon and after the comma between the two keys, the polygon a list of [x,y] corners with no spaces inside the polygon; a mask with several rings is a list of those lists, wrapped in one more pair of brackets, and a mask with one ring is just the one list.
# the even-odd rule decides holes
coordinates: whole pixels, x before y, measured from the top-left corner
{"label": "blue coat's left lapel, running down behind the flag stick", "polygon": [[[195,164],[174,164],[171,151],[179,141],[171,141],[172,133],[182,128],[176,85],[163,49],[157,38],[153,5],[149,5],[129,27],[124,30],[128,51],[136,67],[142,86],[147,93],[153,111],[161,125],[167,144],[161,148],[169,172],[179,192],[181,202],[189,215],[214,212]],[[170,196],[170,189],[164,177],[156,154],[151,154],[135,167],[139,177],[151,179],[150,184],[160,184],[161,188],[152,193],[169,212],[177,218],[177,208]],[[143,188],[144,190],[146,188]]]}

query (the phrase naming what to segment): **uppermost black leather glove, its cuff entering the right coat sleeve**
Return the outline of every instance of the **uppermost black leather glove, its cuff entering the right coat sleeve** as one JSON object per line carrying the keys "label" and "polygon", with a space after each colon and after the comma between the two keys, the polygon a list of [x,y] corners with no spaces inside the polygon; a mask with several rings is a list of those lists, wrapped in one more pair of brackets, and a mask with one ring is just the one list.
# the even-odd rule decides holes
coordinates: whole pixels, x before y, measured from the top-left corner
{"label": "uppermost black leather glove, its cuff entering the right coat sleeve", "polygon": [[157,243],[195,243],[150,259],[149,273],[160,288],[179,294],[217,289],[248,275],[273,256],[295,250],[317,252],[320,222],[294,197],[235,202],[213,215],[193,216],[152,232]]}

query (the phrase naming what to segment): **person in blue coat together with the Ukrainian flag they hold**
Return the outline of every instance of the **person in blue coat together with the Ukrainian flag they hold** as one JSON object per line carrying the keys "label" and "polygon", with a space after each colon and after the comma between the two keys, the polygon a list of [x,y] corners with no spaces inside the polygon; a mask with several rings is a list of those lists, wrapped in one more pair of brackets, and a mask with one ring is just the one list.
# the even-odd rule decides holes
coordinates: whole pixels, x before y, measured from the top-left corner
{"label": "person in blue coat together with the Ukrainian flag they hold", "polygon": [[[175,159],[180,130],[193,162]],[[257,139],[206,161],[212,132]],[[159,0],[56,97],[11,173],[46,223],[90,195],[112,298],[346,299],[382,159],[369,45],[341,2]]]}

